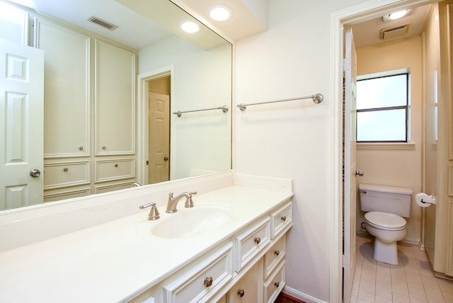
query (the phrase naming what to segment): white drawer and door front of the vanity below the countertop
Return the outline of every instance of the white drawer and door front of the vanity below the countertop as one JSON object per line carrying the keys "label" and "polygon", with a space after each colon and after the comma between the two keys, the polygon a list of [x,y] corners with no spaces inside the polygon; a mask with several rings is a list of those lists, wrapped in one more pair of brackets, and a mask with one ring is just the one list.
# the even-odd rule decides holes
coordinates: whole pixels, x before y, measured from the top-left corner
{"label": "white drawer and door front of the vanity below the countertop", "polygon": [[289,201],[130,302],[274,302],[285,287],[286,233],[291,227]]}

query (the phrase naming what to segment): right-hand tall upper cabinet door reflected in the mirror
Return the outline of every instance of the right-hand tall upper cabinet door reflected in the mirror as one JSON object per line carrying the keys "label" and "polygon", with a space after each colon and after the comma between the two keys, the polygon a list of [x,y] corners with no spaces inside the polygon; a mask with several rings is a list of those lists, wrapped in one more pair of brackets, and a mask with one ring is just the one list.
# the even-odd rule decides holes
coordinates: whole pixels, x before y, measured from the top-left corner
{"label": "right-hand tall upper cabinet door reflected in the mirror", "polygon": [[95,42],[96,154],[134,154],[135,55]]}

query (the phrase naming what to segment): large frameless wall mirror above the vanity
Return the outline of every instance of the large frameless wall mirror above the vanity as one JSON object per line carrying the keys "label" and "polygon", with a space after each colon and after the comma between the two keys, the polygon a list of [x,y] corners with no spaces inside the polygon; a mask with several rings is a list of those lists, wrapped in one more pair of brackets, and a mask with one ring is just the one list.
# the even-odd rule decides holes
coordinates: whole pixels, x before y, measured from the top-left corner
{"label": "large frameless wall mirror above the vanity", "polygon": [[0,0],[0,43],[0,210],[231,169],[231,43],[172,1]]}

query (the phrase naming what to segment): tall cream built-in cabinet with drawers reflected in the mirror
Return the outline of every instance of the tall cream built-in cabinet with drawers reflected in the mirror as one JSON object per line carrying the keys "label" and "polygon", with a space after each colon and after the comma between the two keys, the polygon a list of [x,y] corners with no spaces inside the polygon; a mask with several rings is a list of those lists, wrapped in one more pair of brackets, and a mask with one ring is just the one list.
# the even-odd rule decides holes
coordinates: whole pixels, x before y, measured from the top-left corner
{"label": "tall cream built-in cabinet with drawers reflected in the mirror", "polygon": [[44,200],[132,187],[136,52],[45,17]]}

